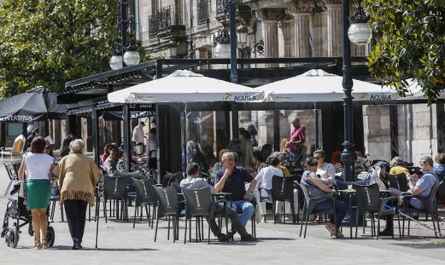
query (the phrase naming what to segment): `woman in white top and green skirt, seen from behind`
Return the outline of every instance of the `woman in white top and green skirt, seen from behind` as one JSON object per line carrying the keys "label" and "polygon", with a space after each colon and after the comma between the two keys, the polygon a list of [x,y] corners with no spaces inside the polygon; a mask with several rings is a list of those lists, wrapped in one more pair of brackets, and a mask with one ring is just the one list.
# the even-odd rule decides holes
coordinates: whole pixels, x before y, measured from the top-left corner
{"label": "woman in white top and green skirt, seen from behind", "polygon": [[[51,196],[51,171],[54,169],[54,159],[45,154],[46,141],[36,137],[31,141],[31,152],[24,155],[19,169],[19,179],[24,179],[26,173],[26,204],[31,211],[32,226],[35,236],[35,249],[48,248],[46,241],[46,208]],[[40,241],[42,239],[42,243]]]}

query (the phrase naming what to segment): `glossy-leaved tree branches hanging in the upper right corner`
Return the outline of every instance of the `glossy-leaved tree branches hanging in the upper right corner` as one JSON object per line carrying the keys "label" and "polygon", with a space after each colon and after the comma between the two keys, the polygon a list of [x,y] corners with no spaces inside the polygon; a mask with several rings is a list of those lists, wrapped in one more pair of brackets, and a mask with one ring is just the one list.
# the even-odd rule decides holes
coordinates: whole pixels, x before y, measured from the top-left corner
{"label": "glossy-leaved tree branches hanging in the upper right corner", "polygon": [[371,74],[408,92],[416,80],[429,103],[445,88],[445,0],[364,0],[377,46]]}

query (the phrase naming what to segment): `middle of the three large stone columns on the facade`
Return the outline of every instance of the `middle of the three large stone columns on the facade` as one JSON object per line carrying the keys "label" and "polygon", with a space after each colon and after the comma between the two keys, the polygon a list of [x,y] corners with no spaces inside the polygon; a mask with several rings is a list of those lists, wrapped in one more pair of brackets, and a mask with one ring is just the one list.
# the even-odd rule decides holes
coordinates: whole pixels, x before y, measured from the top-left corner
{"label": "middle of the three large stone columns on the facade", "polygon": [[314,1],[293,1],[288,11],[294,17],[295,57],[311,57],[310,15],[314,9]]}

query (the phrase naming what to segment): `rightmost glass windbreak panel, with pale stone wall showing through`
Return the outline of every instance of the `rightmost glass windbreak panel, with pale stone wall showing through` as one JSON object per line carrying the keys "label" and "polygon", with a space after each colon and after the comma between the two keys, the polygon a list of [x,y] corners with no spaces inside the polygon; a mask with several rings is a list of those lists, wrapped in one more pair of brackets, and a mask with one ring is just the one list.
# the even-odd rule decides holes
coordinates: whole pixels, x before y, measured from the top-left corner
{"label": "rightmost glass windbreak panel, with pale stone wall showing through", "polygon": [[423,156],[436,154],[436,104],[399,105],[397,113],[399,155],[418,166]]}

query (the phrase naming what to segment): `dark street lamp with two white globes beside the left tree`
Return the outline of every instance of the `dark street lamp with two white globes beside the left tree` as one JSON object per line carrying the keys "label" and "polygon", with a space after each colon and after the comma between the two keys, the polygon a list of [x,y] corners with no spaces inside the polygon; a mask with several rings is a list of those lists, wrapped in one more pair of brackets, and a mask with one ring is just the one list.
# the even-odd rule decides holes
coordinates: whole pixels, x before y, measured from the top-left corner
{"label": "dark street lamp with two white globes beside the left tree", "polygon": [[[125,66],[133,66],[139,63],[140,56],[135,44],[135,29],[133,28],[133,14],[128,0],[118,2],[118,17],[116,19],[116,48],[110,59],[110,67],[113,70]],[[127,42],[128,28],[130,41]],[[121,30],[119,32],[119,29]],[[119,37],[119,35],[121,37]],[[128,46],[127,46],[128,45]]]}

